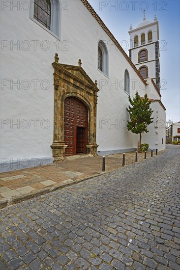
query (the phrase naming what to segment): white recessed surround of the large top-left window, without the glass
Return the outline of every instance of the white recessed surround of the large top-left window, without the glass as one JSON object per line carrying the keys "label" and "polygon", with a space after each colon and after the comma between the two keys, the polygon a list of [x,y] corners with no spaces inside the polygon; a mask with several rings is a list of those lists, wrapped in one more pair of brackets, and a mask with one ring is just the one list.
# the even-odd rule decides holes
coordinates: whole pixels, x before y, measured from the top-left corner
{"label": "white recessed surround of the large top-left window, without the glass", "polygon": [[50,34],[54,35],[56,38],[60,39],[60,0],[50,0],[51,2],[51,26],[50,30],[39,23],[36,19],[34,19],[34,0],[30,0],[30,19],[45,29]]}

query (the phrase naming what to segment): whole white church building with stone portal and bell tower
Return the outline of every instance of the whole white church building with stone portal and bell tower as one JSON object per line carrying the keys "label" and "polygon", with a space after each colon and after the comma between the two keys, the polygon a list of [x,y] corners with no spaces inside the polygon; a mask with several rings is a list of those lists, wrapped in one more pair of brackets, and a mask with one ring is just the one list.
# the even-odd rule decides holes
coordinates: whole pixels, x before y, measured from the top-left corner
{"label": "whole white church building with stone portal and bell tower", "polygon": [[165,149],[156,18],[130,27],[128,56],[87,0],[11,4],[1,8],[2,164],[137,149],[126,128],[136,91],[154,117],[142,143]]}

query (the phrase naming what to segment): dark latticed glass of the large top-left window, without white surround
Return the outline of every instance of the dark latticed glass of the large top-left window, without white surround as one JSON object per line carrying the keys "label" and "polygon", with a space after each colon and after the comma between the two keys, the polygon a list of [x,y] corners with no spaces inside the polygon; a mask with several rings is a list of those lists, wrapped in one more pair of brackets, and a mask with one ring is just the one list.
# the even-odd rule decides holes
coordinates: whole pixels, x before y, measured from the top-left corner
{"label": "dark latticed glass of the large top-left window, without white surround", "polygon": [[34,1],[34,19],[50,30],[51,2],[50,0]]}

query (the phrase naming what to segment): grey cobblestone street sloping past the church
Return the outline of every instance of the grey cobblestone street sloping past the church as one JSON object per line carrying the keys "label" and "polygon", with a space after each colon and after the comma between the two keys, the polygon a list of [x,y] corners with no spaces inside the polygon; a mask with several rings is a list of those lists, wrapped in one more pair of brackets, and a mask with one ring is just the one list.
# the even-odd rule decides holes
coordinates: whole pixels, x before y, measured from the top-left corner
{"label": "grey cobblestone street sloping past the church", "polygon": [[1,210],[0,270],[179,270],[180,147]]}

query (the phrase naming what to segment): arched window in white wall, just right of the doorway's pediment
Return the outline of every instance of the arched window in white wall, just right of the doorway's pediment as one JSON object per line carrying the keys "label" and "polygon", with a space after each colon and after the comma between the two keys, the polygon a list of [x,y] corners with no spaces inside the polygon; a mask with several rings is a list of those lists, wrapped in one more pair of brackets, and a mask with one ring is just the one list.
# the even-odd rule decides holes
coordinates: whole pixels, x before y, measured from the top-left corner
{"label": "arched window in white wall, just right of the doorway's pediment", "polygon": [[98,70],[102,71],[105,75],[108,76],[108,50],[105,43],[100,40],[98,43]]}

